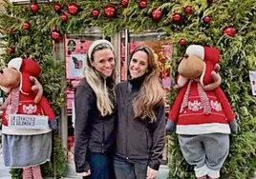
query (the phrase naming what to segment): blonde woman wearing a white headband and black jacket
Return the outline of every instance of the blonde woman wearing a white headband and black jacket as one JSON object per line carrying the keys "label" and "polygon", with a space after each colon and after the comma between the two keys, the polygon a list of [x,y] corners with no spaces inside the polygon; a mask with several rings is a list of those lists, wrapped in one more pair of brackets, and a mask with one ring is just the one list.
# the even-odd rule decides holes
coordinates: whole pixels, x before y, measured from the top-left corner
{"label": "blonde woman wearing a white headband and black jacket", "polygon": [[96,40],[75,91],[75,169],[83,178],[113,179],[114,70],[113,45]]}

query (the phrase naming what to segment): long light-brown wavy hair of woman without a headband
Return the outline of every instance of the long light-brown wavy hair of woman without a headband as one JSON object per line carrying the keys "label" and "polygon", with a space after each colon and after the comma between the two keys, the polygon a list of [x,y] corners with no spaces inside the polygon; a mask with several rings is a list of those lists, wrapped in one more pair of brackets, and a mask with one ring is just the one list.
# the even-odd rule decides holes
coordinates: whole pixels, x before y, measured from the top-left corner
{"label": "long light-brown wavy hair of woman without a headband", "polygon": [[133,108],[135,118],[140,117],[144,120],[149,118],[149,122],[153,123],[157,121],[156,109],[164,105],[165,91],[160,84],[160,68],[153,50],[146,46],[140,46],[133,51],[131,59],[139,50],[147,53],[148,71],[146,72],[147,74],[139,91],[139,95],[134,99]]}

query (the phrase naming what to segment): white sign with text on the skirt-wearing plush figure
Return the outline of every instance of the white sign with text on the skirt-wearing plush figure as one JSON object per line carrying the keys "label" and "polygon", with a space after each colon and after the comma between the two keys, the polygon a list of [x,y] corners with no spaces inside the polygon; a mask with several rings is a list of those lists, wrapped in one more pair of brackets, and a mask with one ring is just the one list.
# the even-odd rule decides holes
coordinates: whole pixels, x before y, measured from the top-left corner
{"label": "white sign with text on the skirt-wearing plush figure", "polygon": [[11,114],[9,127],[11,129],[49,129],[48,116]]}

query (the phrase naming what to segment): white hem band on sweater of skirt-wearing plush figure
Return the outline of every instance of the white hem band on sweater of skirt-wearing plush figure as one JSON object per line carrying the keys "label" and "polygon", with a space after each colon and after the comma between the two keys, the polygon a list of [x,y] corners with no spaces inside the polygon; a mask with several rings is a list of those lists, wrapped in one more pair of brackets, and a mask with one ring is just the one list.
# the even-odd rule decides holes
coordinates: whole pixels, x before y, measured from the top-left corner
{"label": "white hem band on sweater of skirt-wearing plush figure", "polygon": [[11,129],[3,125],[2,133],[8,135],[37,135],[48,133],[52,131],[52,129]]}

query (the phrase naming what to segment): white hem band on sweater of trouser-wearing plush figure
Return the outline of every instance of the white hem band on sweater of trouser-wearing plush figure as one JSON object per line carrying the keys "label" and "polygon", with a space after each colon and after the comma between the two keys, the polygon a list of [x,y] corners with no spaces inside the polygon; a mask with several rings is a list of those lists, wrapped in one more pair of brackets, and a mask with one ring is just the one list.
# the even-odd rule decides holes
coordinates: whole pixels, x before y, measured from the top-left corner
{"label": "white hem band on sweater of trouser-wearing plush figure", "polygon": [[208,133],[230,133],[228,124],[210,123],[199,125],[177,125],[176,133],[186,135],[199,135]]}

